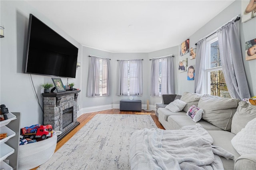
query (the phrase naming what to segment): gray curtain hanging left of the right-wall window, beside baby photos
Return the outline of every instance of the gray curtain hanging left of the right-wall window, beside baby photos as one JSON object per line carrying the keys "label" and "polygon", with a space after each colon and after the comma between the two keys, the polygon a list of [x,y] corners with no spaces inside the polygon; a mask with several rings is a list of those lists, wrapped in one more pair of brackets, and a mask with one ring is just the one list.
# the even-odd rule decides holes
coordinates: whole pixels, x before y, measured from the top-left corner
{"label": "gray curtain hanging left of the right-wall window, beside baby photos", "polygon": [[196,66],[194,78],[195,93],[203,94],[204,73],[205,73],[205,58],[206,58],[206,38],[197,42],[196,45]]}

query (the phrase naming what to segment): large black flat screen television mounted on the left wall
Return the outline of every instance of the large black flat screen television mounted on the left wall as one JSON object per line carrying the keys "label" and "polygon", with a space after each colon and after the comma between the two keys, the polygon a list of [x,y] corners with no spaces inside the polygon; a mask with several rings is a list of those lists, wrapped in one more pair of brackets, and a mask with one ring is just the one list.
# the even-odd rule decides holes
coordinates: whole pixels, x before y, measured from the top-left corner
{"label": "large black flat screen television mounted on the left wall", "polygon": [[78,48],[30,14],[25,73],[76,77]]}

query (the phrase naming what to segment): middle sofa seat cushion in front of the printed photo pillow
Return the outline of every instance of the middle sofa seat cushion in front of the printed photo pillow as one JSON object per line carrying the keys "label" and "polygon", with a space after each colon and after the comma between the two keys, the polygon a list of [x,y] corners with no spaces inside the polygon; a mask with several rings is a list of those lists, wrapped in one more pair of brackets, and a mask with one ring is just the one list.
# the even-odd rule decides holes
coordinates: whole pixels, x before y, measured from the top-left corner
{"label": "middle sofa seat cushion in front of the printed photo pillow", "polygon": [[[171,115],[168,117],[167,121],[170,126],[172,126],[171,130],[178,130],[187,125],[196,125],[196,123],[187,115]],[[197,123],[200,123],[206,130],[222,130],[202,119]]]}

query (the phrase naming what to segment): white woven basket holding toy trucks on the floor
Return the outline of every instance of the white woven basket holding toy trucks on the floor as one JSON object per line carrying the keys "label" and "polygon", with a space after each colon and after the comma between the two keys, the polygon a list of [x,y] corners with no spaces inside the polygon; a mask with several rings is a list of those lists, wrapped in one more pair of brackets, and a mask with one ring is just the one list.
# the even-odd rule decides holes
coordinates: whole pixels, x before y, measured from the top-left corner
{"label": "white woven basket holding toy trucks on the floor", "polygon": [[20,145],[18,152],[18,170],[36,168],[49,160],[54,154],[57,144],[57,135],[59,134],[61,134],[61,131],[57,131],[51,138]]}

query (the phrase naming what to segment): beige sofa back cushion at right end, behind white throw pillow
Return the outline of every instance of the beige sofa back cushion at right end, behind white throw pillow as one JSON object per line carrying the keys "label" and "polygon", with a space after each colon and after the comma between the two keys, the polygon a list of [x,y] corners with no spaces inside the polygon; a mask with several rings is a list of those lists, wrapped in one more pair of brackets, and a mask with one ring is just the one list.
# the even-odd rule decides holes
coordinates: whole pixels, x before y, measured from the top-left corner
{"label": "beige sofa back cushion at right end, behind white throw pillow", "polygon": [[256,106],[240,101],[232,119],[231,132],[237,134],[254,118],[256,118]]}

